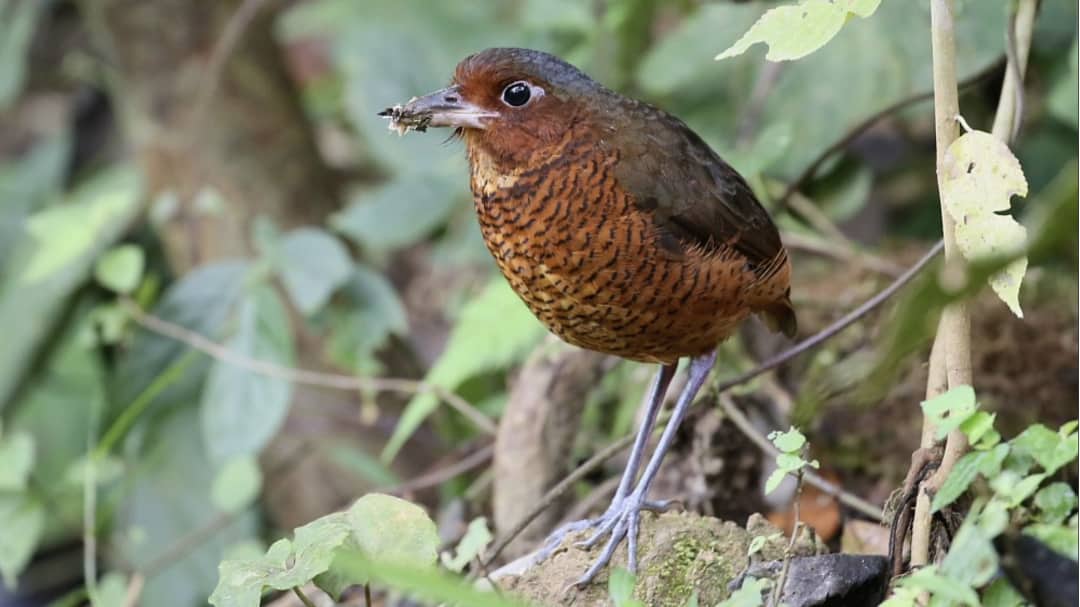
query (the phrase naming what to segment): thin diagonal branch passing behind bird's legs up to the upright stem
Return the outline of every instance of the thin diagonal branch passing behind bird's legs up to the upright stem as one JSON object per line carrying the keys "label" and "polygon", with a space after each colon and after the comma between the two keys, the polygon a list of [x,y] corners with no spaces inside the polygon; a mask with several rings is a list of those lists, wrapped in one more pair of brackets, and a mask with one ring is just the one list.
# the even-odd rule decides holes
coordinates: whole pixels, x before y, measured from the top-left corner
{"label": "thin diagonal branch passing behind bird's legs up to the upright stem", "polygon": [[[818,346],[821,346],[828,338],[840,333],[841,331],[850,326],[852,323],[854,323],[862,316],[873,311],[878,306],[885,304],[893,294],[895,294],[904,285],[910,282],[912,279],[914,279],[916,275],[918,275],[918,273],[923,268],[926,268],[927,265],[929,265],[930,261],[933,260],[933,258],[936,257],[939,253],[941,253],[941,251],[942,251],[942,243],[939,242],[937,244],[932,246],[930,251],[928,251],[927,254],[922,256],[922,258],[916,261],[914,266],[908,268],[908,270],[905,271],[900,278],[890,283],[889,286],[881,289],[881,292],[879,292],[877,295],[868,299],[862,306],[845,314],[842,318],[840,318],[833,324],[823,328],[818,334],[800,341],[793,348],[765,361],[764,363],[759,364],[753,369],[733,379],[729,379],[727,381],[721,382],[719,386],[717,386],[716,391],[718,393],[723,393],[724,391],[729,390],[734,386],[739,386],[740,383],[745,383],[759,375],[772,370],[773,368],[794,359],[795,356],[798,356],[799,354],[806,352],[807,350],[811,350]],[[658,422],[657,426],[658,428],[662,428],[663,423]],[[522,517],[522,520],[516,525],[514,525],[513,528],[511,528],[510,531],[508,531],[504,537],[500,538],[492,545],[492,548],[488,552],[488,556],[484,559],[484,564],[490,565],[491,562],[499,556],[499,553],[502,552],[502,550],[507,548],[507,545],[510,544],[510,542],[513,541],[513,539],[517,537],[525,529],[525,527],[529,525],[529,523],[531,523],[537,516],[540,515],[541,512],[543,512],[552,503],[554,503],[555,500],[562,497],[563,494],[569,490],[575,483],[584,478],[585,476],[591,474],[594,470],[599,469],[600,466],[604,466],[604,462],[606,462],[608,459],[615,457],[617,454],[629,447],[633,442],[634,442],[633,434],[627,434],[622,439],[619,439],[615,443],[611,443],[607,447],[604,447],[604,449],[596,453],[588,461],[579,466],[573,472],[571,472],[565,478],[559,481],[554,487],[552,487],[546,494],[544,494],[542,498],[540,498],[540,501],[537,502],[537,505],[534,507],[531,511],[529,511],[524,517]]]}

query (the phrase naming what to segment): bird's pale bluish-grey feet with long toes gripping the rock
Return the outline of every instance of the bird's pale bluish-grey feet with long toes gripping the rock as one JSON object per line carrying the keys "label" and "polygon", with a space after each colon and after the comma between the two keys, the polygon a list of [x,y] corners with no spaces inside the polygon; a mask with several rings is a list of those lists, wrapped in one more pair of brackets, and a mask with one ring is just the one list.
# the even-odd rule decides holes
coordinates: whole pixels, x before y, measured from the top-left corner
{"label": "bird's pale bluish-grey feet with long toes gripping the rock", "polygon": [[631,572],[634,572],[637,566],[637,531],[640,527],[642,511],[664,512],[671,507],[673,501],[647,500],[644,495],[639,495],[637,491],[633,491],[625,497],[616,498],[611,502],[611,505],[608,507],[607,512],[600,516],[584,521],[575,521],[555,529],[544,541],[543,548],[540,549],[538,562],[548,558],[556,548],[562,545],[563,540],[568,535],[585,529],[594,529],[593,535],[589,539],[576,542],[573,545],[589,550],[599,543],[605,536],[608,536],[608,541],[593,565],[573,585],[584,586],[591,582],[596,577],[596,574],[611,561],[611,556],[623,539],[627,540],[627,568]]}

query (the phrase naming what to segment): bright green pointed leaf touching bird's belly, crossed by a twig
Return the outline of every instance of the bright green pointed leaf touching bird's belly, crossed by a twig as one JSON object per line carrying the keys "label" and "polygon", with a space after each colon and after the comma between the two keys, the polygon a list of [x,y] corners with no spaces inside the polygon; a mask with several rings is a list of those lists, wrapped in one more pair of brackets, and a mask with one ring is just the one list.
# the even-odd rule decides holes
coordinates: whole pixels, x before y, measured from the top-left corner
{"label": "bright green pointed leaf touching bird's belly, crossed by a twig", "polygon": [[[470,377],[522,360],[543,334],[543,326],[510,285],[501,278],[494,279],[461,310],[446,350],[424,380],[453,390]],[[431,393],[409,401],[382,450],[382,459],[393,459],[437,406],[438,400]]]}

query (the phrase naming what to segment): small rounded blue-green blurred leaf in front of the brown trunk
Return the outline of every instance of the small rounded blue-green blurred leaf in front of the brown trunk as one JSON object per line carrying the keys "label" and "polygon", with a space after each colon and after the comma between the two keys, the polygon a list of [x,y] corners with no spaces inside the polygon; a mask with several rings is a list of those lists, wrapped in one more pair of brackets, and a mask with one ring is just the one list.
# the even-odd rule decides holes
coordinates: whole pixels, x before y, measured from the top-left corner
{"label": "small rounded blue-green blurred leaf in front of the brown trunk", "polygon": [[338,239],[299,228],[281,241],[279,273],[289,299],[306,315],[319,311],[352,272],[352,258]]}

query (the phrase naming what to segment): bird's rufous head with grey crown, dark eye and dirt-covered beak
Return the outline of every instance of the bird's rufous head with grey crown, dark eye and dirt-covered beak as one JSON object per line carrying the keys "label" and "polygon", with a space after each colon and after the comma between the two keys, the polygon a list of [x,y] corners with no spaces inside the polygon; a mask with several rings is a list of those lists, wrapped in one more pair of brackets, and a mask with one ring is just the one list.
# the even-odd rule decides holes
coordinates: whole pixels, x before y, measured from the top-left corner
{"label": "bird's rufous head with grey crown, dark eye and dirt-covered beak", "polygon": [[556,144],[609,92],[563,59],[527,49],[487,49],[458,64],[446,89],[387,110],[394,124],[456,129],[470,148],[524,160]]}

